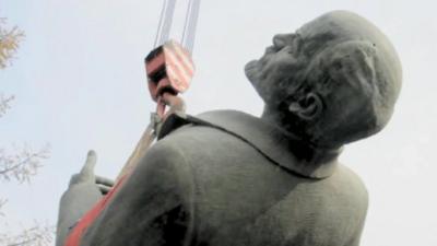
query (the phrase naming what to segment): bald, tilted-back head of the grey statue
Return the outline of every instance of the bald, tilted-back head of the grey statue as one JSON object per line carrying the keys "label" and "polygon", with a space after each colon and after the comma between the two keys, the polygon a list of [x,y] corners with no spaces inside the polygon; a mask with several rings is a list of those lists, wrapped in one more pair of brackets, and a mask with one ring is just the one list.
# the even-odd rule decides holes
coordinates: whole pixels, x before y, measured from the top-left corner
{"label": "bald, tilted-back head of the grey statue", "polygon": [[346,11],[275,35],[273,45],[245,70],[265,103],[264,114],[321,148],[336,148],[381,130],[402,81],[388,38]]}

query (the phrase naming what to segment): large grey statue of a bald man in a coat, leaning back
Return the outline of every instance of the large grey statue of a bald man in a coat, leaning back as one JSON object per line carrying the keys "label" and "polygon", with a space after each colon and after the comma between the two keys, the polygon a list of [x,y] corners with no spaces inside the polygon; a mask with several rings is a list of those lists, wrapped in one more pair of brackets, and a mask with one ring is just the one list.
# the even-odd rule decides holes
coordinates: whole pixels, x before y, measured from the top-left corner
{"label": "large grey statue of a bald man in a coat, leaning back", "polygon": [[274,36],[245,71],[262,116],[172,115],[78,245],[359,244],[367,191],[338,156],[392,115],[402,80],[392,45],[334,11]]}

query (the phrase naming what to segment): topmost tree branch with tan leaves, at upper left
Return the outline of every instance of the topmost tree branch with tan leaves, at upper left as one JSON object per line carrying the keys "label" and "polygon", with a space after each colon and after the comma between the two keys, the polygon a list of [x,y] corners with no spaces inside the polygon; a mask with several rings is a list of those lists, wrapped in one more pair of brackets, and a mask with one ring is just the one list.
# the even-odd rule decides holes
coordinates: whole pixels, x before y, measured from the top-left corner
{"label": "topmost tree branch with tan leaves, at upper left", "polygon": [[24,32],[17,26],[5,28],[5,19],[0,19],[0,69],[11,63],[20,42],[24,38]]}

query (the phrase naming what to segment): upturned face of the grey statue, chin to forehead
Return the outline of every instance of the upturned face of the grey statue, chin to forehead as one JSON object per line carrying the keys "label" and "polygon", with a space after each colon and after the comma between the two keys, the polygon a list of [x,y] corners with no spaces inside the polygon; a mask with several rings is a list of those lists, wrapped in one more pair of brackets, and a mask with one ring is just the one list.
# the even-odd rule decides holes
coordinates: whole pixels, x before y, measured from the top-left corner
{"label": "upturned face of the grey statue, chin to forehead", "polygon": [[308,72],[320,70],[318,60],[323,51],[341,40],[341,35],[329,32],[323,22],[316,20],[295,33],[275,35],[264,55],[246,65],[246,75],[264,102],[275,105],[300,86]]}

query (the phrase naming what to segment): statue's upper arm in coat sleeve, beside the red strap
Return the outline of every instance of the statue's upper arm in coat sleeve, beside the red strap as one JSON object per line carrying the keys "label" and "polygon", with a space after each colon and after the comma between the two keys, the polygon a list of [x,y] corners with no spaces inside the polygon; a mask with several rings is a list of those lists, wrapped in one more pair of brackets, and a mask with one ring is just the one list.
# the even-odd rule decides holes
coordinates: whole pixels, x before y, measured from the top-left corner
{"label": "statue's upper arm in coat sleeve, beside the red strap", "polygon": [[177,147],[160,141],[137,165],[82,245],[184,245],[192,236],[193,181]]}

